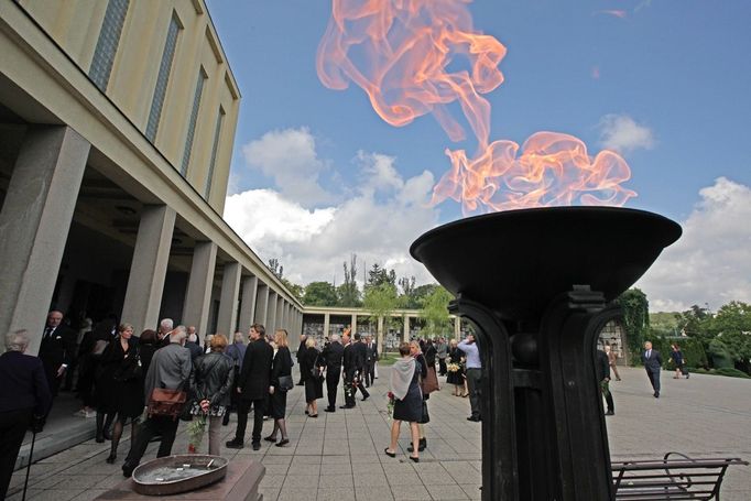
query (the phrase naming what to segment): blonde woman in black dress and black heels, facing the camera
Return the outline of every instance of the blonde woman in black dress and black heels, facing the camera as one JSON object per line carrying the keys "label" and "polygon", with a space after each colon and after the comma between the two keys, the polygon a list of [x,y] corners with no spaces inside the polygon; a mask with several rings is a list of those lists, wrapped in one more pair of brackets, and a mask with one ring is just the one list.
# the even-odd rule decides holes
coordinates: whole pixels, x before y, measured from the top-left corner
{"label": "blonde woman in black dress and black heels, facing the camera", "polygon": [[121,324],[118,336],[109,344],[101,356],[101,405],[109,415],[116,415],[112,427],[112,444],[107,462],[118,457],[118,444],[126,421],[131,420],[131,443],[135,436],[135,425],[143,412],[143,368],[139,356],[133,326]]}

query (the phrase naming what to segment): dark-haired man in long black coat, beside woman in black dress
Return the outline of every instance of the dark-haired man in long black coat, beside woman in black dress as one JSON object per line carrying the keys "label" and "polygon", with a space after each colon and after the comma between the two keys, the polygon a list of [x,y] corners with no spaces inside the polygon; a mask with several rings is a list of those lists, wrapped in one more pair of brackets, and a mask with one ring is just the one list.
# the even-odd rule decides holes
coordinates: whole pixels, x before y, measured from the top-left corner
{"label": "dark-haired man in long black coat, beside woman in black dress", "polygon": [[240,394],[238,405],[238,424],[235,438],[226,445],[232,449],[241,449],[246,442],[246,427],[248,426],[248,413],[253,406],[253,432],[251,435],[253,450],[261,448],[261,433],[263,431],[263,412],[269,396],[271,382],[271,362],[274,358],[274,349],[265,340],[265,328],[261,324],[250,327],[250,344],[246,348],[242,359],[240,380],[237,392]]}

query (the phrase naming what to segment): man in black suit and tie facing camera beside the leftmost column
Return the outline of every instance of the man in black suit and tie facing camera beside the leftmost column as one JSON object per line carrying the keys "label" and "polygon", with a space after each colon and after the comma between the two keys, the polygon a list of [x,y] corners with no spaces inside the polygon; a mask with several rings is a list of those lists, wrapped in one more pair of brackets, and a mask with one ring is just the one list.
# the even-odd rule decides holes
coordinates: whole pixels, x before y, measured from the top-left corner
{"label": "man in black suit and tie facing camera beside the leftmost column", "polygon": [[63,324],[63,314],[53,309],[47,314],[39,352],[53,399],[57,396],[59,383],[73,361],[75,351],[76,333]]}

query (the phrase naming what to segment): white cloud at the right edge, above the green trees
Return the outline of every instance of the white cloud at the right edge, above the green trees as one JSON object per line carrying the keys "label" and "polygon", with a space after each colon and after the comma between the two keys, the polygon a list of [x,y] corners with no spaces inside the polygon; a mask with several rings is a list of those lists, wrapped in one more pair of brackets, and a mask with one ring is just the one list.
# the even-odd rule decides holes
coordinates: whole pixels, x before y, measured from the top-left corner
{"label": "white cloud at the right edge, above the green trees", "polygon": [[699,195],[681,239],[636,283],[652,312],[751,303],[751,188],[719,177]]}

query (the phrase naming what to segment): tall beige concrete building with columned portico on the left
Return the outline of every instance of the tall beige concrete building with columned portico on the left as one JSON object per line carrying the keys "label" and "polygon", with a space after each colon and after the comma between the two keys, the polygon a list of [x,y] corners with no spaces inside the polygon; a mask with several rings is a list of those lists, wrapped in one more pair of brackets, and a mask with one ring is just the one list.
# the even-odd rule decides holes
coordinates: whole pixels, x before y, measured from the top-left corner
{"label": "tall beige concrete building with columned portico on the left", "polygon": [[240,91],[204,0],[0,0],[0,331],[302,330],[221,218]]}

